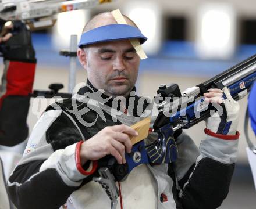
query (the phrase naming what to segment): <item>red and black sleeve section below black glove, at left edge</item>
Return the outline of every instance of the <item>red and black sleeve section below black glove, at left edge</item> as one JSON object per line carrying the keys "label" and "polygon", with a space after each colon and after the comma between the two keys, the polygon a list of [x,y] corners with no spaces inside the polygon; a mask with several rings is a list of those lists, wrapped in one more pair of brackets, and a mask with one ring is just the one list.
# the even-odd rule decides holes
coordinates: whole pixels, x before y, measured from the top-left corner
{"label": "red and black sleeve section below black glove, at left edge", "polygon": [[0,145],[15,146],[28,135],[29,93],[36,63],[5,60],[4,64],[0,85]]}

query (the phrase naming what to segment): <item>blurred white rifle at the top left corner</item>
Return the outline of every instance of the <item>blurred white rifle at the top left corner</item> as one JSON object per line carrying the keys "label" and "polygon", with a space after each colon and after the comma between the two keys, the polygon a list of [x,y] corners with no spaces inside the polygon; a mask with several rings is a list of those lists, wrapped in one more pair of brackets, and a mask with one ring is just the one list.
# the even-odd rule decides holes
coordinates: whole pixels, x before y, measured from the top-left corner
{"label": "blurred white rifle at the top left corner", "polygon": [[1,1],[0,19],[23,21],[30,30],[38,30],[54,25],[54,15],[78,9],[94,8],[112,0],[34,0]]}

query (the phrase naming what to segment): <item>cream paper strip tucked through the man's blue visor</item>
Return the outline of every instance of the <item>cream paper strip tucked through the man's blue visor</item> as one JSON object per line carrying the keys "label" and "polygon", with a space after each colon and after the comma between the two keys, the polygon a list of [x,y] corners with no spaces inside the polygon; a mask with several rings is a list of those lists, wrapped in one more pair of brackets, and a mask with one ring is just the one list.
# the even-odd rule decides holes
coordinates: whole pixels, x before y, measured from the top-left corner
{"label": "cream paper strip tucked through the man's blue visor", "polygon": [[[119,9],[113,10],[111,13],[118,24],[127,24],[125,18],[123,17]],[[143,48],[141,47],[140,42],[137,39],[130,39],[129,41],[131,42],[133,48],[136,50],[136,53],[138,54],[140,59],[148,58]]]}

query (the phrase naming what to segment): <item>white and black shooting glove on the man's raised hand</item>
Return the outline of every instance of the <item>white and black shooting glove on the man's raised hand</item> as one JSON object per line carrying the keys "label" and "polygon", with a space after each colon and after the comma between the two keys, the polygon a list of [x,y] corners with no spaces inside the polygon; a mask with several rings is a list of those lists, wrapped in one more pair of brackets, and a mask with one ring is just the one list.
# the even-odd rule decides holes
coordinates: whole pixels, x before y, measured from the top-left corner
{"label": "white and black shooting glove on the man's raised hand", "polygon": [[[239,122],[239,103],[230,95],[229,89],[223,90],[223,103],[218,111],[206,120],[205,133],[209,135],[239,135],[237,126]],[[216,104],[213,104],[214,106]]]}

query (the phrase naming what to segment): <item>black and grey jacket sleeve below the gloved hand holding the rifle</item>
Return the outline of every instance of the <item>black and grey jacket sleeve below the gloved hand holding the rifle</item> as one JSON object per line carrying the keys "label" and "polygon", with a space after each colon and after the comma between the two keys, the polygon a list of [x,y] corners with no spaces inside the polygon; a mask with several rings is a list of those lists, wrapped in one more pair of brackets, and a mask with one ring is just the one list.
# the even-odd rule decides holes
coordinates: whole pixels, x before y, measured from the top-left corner
{"label": "black and grey jacket sleeve below the gloved hand holding the rifle", "polygon": [[177,178],[177,199],[184,209],[218,208],[229,192],[238,140],[207,135],[197,149],[184,133],[177,138],[179,159],[169,166]]}

